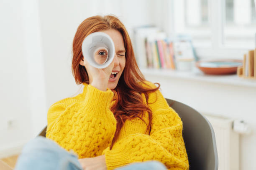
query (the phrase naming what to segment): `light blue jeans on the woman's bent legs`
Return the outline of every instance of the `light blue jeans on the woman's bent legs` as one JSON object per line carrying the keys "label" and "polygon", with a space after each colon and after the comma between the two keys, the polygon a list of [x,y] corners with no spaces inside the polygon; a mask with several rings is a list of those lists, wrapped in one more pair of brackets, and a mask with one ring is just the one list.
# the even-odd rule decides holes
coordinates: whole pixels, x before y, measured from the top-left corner
{"label": "light blue jeans on the woman's bent legs", "polygon": [[[132,163],[116,170],[166,170],[158,161]],[[77,155],[61,148],[53,140],[38,136],[23,148],[15,170],[82,170]]]}

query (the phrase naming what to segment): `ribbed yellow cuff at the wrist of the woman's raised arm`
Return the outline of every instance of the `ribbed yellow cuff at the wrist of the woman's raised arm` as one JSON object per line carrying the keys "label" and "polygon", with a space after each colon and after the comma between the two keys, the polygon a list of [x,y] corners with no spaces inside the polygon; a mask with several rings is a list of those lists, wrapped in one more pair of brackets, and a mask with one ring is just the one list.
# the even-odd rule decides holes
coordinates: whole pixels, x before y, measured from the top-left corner
{"label": "ribbed yellow cuff at the wrist of the woman's raised arm", "polygon": [[84,106],[87,110],[90,110],[90,112],[102,113],[106,109],[109,109],[113,96],[114,93],[109,88],[107,88],[107,91],[102,91],[92,85],[88,85],[83,101]]}

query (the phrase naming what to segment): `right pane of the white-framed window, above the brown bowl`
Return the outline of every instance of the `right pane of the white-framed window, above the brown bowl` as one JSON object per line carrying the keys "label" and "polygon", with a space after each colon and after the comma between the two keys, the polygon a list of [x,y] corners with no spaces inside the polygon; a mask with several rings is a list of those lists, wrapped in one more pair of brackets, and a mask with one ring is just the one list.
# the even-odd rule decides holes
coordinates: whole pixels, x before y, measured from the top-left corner
{"label": "right pane of the white-framed window, above the brown bowl", "polygon": [[254,0],[225,0],[223,44],[254,47],[256,16]]}

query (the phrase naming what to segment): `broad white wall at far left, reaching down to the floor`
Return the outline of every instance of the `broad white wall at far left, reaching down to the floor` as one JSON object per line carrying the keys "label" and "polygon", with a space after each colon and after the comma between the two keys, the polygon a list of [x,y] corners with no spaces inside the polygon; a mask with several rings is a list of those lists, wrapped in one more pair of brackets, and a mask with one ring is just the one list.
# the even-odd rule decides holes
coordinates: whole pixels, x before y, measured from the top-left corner
{"label": "broad white wall at far left, reaching down to the floor", "polygon": [[19,152],[46,120],[38,10],[27,2],[0,5],[0,157]]}

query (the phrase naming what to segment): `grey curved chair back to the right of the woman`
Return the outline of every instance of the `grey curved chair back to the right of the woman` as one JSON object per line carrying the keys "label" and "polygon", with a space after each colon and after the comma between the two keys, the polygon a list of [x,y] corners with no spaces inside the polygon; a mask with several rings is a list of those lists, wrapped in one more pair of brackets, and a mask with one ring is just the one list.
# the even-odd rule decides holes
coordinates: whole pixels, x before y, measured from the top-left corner
{"label": "grey curved chair back to the right of the woman", "polygon": [[166,98],[181,117],[190,170],[218,170],[215,133],[210,122],[192,107]]}

